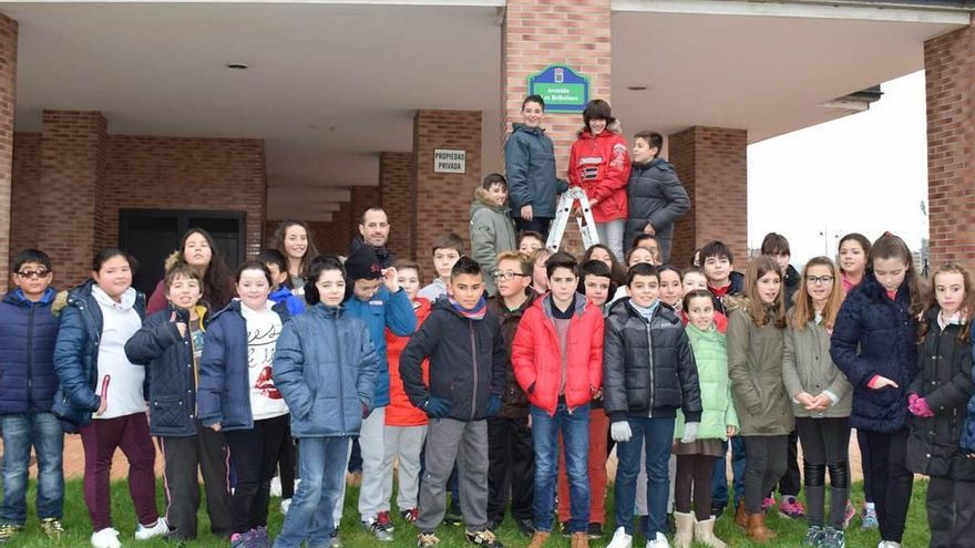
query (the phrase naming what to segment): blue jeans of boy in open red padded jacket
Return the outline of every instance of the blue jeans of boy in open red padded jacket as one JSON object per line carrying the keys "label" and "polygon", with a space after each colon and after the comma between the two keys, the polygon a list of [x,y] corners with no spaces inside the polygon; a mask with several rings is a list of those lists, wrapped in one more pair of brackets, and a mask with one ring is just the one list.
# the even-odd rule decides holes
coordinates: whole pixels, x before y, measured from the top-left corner
{"label": "blue jeans of boy in open red padded jacket", "polygon": [[[589,406],[571,412],[564,402],[555,415],[532,405],[532,444],[535,446],[535,528],[551,531],[554,521],[555,479],[558,473],[558,432],[565,447],[565,472],[568,477],[568,502],[572,518],[568,530],[585,533],[589,527]],[[603,496],[602,493],[598,496]]]}

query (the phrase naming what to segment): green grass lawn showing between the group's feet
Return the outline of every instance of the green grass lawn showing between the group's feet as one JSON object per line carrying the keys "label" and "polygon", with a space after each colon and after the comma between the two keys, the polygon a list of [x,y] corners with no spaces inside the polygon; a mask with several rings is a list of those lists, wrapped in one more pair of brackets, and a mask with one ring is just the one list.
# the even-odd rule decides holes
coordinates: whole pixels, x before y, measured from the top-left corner
{"label": "green grass lawn showing between the group's feet", "polygon": [[[89,544],[89,538],[92,531],[91,525],[88,519],[88,509],[84,506],[84,495],[82,493],[81,480],[75,479],[68,482],[66,496],[64,502],[65,535],[59,545],[53,545],[40,533],[37,517],[33,515],[33,494],[35,493],[33,487],[34,486],[32,485],[29,495],[28,504],[30,508],[30,516],[28,517],[27,530],[17,536],[9,544],[4,545],[4,548],[48,548],[50,546],[83,548],[91,546]],[[922,546],[927,546],[928,544],[927,516],[924,498],[926,490],[927,482],[922,480],[914,484],[914,496],[911,502],[911,509],[907,516],[907,529],[904,536],[904,546],[909,548],[921,548]],[[157,493],[160,494],[160,509],[163,509],[164,505],[162,502],[162,488],[157,489]],[[366,534],[358,525],[358,513],[356,510],[357,498],[358,490],[355,488],[350,488],[346,497],[346,513],[341,527],[342,539],[346,547],[399,548],[414,546],[415,529],[411,525],[403,523],[400,519],[399,515],[393,516],[393,520],[396,523],[396,533],[393,534],[396,536],[396,541],[379,542],[373,540],[372,537]],[[281,527],[283,518],[280,511],[278,510],[278,502],[279,500],[277,498],[271,499],[271,507],[269,511],[269,528],[273,535],[277,533]],[[860,485],[856,485],[853,490],[853,503],[859,508],[862,502],[862,489]],[[609,497],[606,502],[607,516],[613,515],[612,507],[613,496],[610,490]],[[135,514],[132,507],[132,502],[129,498],[126,484],[124,482],[116,482],[112,485],[112,516],[115,528],[121,531],[120,539],[122,540],[122,545],[124,547],[161,548],[170,546],[165,541],[160,539],[136,541],[133,538],[132,535],[135,530]],[[767,546],[801,546],[803,535],[805,534],[805,524],[803,521],[781,518],[777,514],[772,513],[772,515],[769,517],[768,524],[773,530],[779,534],[779,538]],[[442,539],[441,546],[444,548],[461,548],[472,546],[464,538],[463,527],[443,525],[440,527],[438,534]],[[759,546],[753,545],[745,539],[743,535],[741,535],[741,533],[732,523],[732,516],[730,513],[726,513],[718,521],[717,534],[721,539],[735,547]],[[505,525],[499,531],[499,536],[507,548],[522,548],[524,546],[527,546],[528,544],[527,539],[519,535],[517,530],[510,523],[510,520],[505,520]],[[606,537],[601,541],[591,542],[591,546],[593,546],[594,548],[602,548],[609,542],[610,536],[612,530],[607,527]],[[878,533],[875,530],[861,531],[860,519],[854,518],[853,524],[848,530],[846,546],[873,548],[876,546],[878,541]],[[226,540],[215,538],[209,534],[209,523],[206,517],[206,511],[204,510],[201,510],[199,513],[199,537],[191,546],[201,548],[217,548],[228,546],[228,542]],[[558,536],[553,536],[547,544],[547,547],[552,548],[563,548],[568,546],[568,539],[564,539]],[[635,538],[634,547],[637,548],[642,546],[644,546],[644,539],[639,537]]]}

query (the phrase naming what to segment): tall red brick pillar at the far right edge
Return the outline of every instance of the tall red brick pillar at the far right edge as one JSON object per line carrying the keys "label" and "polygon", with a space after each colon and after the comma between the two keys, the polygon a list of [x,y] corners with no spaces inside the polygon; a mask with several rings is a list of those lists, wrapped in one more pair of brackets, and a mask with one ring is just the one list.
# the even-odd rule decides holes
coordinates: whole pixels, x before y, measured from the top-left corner
{"label": "tall red brick pillar at the far right edge", "polygon": [[950,261],[973,268],[975,25],[924,42],[924,73],[931,269]]}

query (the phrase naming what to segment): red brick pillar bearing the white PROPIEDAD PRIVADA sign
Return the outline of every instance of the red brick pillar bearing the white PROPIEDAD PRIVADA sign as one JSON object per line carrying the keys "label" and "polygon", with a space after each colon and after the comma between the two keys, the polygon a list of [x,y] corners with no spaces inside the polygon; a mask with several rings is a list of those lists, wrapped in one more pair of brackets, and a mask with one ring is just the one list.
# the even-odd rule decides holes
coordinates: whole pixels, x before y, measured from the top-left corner
{"label": "red brick pillar bearing the white PROPIEDAD PRIVADA sign", "polygon": [[[464,151],[464,173],[434,173],[435,149]],[[413,117],[412,245],[409,254],[421,263],[430,257],[437,236],[454,231],[469,241],[471,198],[481,182],[481,113],[475,111],[417,111]],[[470,242],[468,244],[470,247]],[[424,276],[431,279],[432,276]]]}

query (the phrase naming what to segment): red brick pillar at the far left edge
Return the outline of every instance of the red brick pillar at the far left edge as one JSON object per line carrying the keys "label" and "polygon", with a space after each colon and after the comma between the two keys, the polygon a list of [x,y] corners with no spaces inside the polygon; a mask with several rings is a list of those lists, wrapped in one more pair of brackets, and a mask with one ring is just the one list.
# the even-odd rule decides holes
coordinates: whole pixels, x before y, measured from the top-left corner
{"label": "red brick pillar at the far left edge", "polygon": [[[17,21],[0,13],[0,257],[10,255],[10,194],[13,186],[13,108],[16,99]],[[0,290],[6,291],[9,277],[3,276],[2,278]]]}

